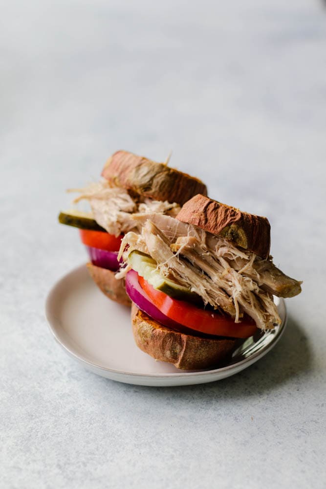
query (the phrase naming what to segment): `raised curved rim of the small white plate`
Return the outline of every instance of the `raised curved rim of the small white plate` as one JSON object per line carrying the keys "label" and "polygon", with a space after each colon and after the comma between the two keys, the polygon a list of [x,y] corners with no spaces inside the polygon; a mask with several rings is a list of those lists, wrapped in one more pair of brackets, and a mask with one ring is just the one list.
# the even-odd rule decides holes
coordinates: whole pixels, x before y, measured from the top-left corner
{"label": "raised curved rim of the small white plate", "polygon": [[[242,360],[239,360],[236,363],[225,365],[223,367],[219,367],[217,369],[212,369],[212,370],[200,370],[200,371],[193,371],[193,372],[182,372],[182,371],[180,371],[180,372],[175,372],[175,373],[170,372],[170,373],[156,373],[156,374],[125,372],[122,370],[116,370],[116,369],[112,369],[109,367],[104,367],[103,365],[98,365],[94,362],[91,362],[90,360],[87,360],[86,358],[83,358],[82,356],[77,355],[77,353],[73,352],[65,343],[63,343],[61,338],[59,338],[55,328],[52,326],[52,322],[50,319],[51,313],[49,311],[49,309],[50,309],[49,304],[50,304],[51,298],[52,298],[52,296],[54,296],[56,290],[60,287],[61,283],[65,282],[65,280],[67,280],[70,276],[77,274],[78,272],[82,272],[83,270],[84,271],[86,270],[86,264],[85,263],[78,266],[78,267],[74,267],[69,272],[65,273],[65,275],[63,275],[61,278],[59,278],[54,283],[54,285],[51,287],[51,289],[47,293],[47,296],[45,299],[45,317],[47,320],[47,326],[48,326],[50,332],[52,333],[54,339],[56,340],[56,342],[64,349],[64,351],[69,356],[76,359],[80,363],[86,364],[86,366],[88,368],[90,368],[93,372],[96,370],[100,370],[100,371],[105,371],[105,372],[109,372],[109,373],[111,372],[112,374],[115,374],[118,377],[119,376],[121,376],[121,377],[130,376],[130,377],[134,377],[134,378],[144,378],[144,379],[145,378],[151,378],[152,380],[155,378],[156,379],[164,379],[164,378],[178,379],[178,378],[193,378],[193,377],[195,377],[195,378],[203,377],[204,378],[206,376],[211,376],[214,374],[227,372],[227,371],[233,370],[233,369],[236,369],[237,372],[239,372],[239,367],[242,367],[243,365],[246,365],[249,367],[252,363],[255,363],[262,356],[265,356],[272,348],[274,348],[274,346],[277,344],[277,342],[281,339],[281,337],[284,333],[284,330],[287,326],[288,314],[287,314],[287,310],[286,310],[286,306],[285,306],[285,301],[282,297],[279,297],[280,305],[282,306],[283,311],[284,311],[284,319],[283,319],[283,321],[279,327],[279,331],[275,334],[275,336],[272,338],[270,343],[268,343],[268,345],[266,345],[265,347],[262,348],[262,350],[259,350],[258,352],[254,352],[252,355],[248,356],[247,358],[243,358]],[[243,370],[243,369],[240,368],[240,370]],[[237,373],[237,372],[235,372],[235,373]],[[101,374],[99,374],[99,375],[101,375]],[[121,379],[121,381],[123,381],[123,380]],[[212,379],[212,381],[214,381],[214,379]],[[145,385],[145,384],[143,384],[143,385]]]}

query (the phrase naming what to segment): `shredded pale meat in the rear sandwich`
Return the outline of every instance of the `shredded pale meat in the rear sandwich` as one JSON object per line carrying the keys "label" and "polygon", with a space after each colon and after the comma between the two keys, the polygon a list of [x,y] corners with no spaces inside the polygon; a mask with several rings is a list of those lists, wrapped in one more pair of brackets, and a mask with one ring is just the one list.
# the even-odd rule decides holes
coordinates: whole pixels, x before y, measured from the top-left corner
{"label": "shredded pale meat in the rear sandwich", "polygon": [[175,202],[131,196],[126,189],[112,187],[107,180],[71,191],[80,193],[74,203],[88,200],[95,221],[109,234],[115,236],[137,229],[137,222],[132,219],[133,213],[141,216],[153,213],[168,213],[170,216],[176,216],[180,210],[180,206]]}

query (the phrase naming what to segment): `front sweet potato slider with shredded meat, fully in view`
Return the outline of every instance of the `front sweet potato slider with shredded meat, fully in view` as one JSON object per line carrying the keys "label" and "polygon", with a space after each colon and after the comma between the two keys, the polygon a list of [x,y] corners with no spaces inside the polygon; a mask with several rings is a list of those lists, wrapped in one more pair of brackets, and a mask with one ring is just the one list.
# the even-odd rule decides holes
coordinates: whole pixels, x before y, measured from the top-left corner
{"label": "front sweet potato slider with shredded meat, fully in view", "polygon": [[134,214],[119,258],[137,346],[180,369],[216,365],[257,331],[281,324],[273,295],[301,282],[269,255],[270,225],[204,195],[178,214]]}

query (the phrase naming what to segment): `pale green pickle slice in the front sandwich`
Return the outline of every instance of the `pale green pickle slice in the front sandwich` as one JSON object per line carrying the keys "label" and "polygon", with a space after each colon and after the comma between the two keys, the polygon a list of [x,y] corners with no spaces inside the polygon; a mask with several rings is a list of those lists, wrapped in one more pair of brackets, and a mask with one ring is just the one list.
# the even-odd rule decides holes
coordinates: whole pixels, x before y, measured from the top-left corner
{"label": "pale green pickle slice in the front sandwich", "polygon": [[160,290],[165,294],[178,299],[192,303],[201,303],[200,297],[190,290],[190,288],[174,282],[174,280],[162,277],[156,269],[157,263],[150,255],[138,250],[133,250],[128,255],[128,263],[138,275],[144,279],[156,290]]}

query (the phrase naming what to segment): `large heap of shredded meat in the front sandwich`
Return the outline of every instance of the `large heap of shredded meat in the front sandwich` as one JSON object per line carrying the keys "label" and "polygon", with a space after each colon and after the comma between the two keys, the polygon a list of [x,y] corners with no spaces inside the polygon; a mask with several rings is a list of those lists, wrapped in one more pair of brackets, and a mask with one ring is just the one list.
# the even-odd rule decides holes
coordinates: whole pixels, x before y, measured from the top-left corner
{"label": "large heap of shredded meat in the front sandwich", "polygon": [[189,287],[205,305],[237,323],[246,313],[262,330],[272,329],[281,324],[273,294],[289,297],[301,291],[300,282],[284,275],[271,258],[262,260],[222,237],[169,216],[134,214],[132,219],[139,232],[127,233],[122,241],[125,262],[134,249],[148,253],[162,277]]}

